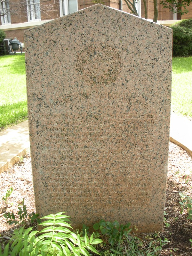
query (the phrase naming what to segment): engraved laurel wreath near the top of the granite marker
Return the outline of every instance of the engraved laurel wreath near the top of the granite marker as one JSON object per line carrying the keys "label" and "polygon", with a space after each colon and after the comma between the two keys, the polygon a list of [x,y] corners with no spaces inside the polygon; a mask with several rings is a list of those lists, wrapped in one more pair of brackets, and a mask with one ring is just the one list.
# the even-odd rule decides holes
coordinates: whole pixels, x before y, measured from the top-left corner
{"label": "engraved laurel wreath near the top of the granite marker", "polygon": [[114,82],[117,75],[121,71],[121,57],[114,48],[108,45],[101,44],[101,51],[110,58],[111,63],[107,73],[103,72],[103,75],[98,77],[96,75],[93,75],[91,70],[87,67],[87,61],[89,60],[91,54],[95,51],[95,49],[96,47],[94,47],[94,44],[92,44],[86,49],[82,50],[77,56],[76,67],[79,71],[78,74],[84,81],[92,85],[99,83],[108,84]]}

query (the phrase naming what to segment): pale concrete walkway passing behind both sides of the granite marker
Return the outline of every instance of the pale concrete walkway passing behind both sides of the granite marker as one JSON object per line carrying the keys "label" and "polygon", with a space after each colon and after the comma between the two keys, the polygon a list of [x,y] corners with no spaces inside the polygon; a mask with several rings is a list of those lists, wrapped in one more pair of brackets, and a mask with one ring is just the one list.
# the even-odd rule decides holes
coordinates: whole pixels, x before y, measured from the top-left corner
{"label": "pale concrete walkway passing behind both sides of the granite marker", "polygon": [[[171,113],[170,141],[192,157],[192,121]],[[28,120],[0,132],[0,173],[30,151]]]}

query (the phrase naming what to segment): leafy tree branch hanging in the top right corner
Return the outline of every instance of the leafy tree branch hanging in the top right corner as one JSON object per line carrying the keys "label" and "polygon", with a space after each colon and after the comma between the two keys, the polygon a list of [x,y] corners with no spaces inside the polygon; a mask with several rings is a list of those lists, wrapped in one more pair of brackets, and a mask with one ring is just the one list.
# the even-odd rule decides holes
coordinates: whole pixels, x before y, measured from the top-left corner
{"label": "leafy tree branch hanging in the top right corner", "polygon": [[168,8],[172,13],[180,13],[183,15],[184,13],[188,13],[186,6],[192,3],[192,0],[163,0],[160,4],[163,5],[163,8]]}

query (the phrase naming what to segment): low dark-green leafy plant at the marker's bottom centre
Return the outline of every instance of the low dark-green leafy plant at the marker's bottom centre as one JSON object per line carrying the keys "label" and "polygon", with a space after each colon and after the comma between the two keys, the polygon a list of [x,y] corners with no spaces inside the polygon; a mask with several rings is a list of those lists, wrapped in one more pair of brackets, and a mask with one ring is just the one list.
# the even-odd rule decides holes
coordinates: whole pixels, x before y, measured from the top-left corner
{"label": "low dark-green leafy plant at the marker's bottom centre", "polygon": [[95,230],[100,230],[103,235],[108,236],[108,242],[112,246],[114,244],[120,245],[123,236],[127,237],[131,232],[130,223],[126,225],[119,225],[119,222],[115,220],[113,223],[105,220],[100,220],[93,225]]}

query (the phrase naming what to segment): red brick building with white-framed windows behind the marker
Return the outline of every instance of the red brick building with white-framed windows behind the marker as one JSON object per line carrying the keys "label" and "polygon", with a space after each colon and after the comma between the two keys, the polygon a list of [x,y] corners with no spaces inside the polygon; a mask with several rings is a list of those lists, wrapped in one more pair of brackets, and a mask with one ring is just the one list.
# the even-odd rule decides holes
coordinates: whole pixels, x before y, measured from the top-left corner
{"label": "red brick building with white-framed windows behind the marker", "polygon": [[[178,20],[177,14],[172,14],[163,8],[158,1],[158,23],[169,26]],[[147,18],[153,20],[153,0],[146,0]],[[103,4],[124,12],[130,12],[124,0],[103,0]],[[28,28],[40,25],[48,20],[59,18],[71,12],[75,12],[93,5],[92,0],[1,0],[0,12],[6,15],[0,19],[0,29],[6,33],[6,39],[23,40],[23,32]],[[140,17],[144,17],[143,1],[138,1],[136,9]],[[182,15],[182,19],[192,18],[192,4],[188,7],[189,12]],[[11,13],[14,11],[13,13]]]}

